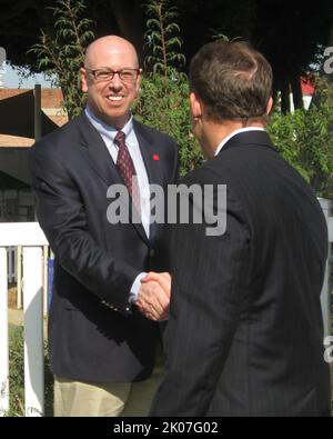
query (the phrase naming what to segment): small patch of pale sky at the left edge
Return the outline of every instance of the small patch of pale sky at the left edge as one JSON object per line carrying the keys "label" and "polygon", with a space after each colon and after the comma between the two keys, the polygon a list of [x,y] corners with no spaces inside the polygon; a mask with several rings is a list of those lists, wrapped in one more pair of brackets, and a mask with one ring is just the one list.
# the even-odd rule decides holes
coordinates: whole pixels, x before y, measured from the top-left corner
{"label": "small patch of pale sky at the left edge", "polygon": [[23,79],[18,71],[8,63],[1,66],[0,76],[3,87],[7,89],[33,89],[36,83],[40,83],[41,87],[46,89],[52,88],[51,81],[47,80],[43,74],[29,74],[29,78]]}

